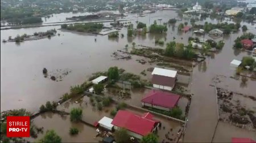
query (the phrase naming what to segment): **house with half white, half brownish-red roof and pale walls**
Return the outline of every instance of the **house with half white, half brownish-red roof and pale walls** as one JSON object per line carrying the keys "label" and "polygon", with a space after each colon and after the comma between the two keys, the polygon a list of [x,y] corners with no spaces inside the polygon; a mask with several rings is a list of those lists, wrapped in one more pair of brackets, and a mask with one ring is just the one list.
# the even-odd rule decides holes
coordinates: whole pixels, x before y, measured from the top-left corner
{"label": "house with half white, half brownish-red roof and pale walls", "polygon": [[174,88],[177,79],[177,71],[155,67],[151,75],[153,75],[151,83],[154,88],[170,91]]}

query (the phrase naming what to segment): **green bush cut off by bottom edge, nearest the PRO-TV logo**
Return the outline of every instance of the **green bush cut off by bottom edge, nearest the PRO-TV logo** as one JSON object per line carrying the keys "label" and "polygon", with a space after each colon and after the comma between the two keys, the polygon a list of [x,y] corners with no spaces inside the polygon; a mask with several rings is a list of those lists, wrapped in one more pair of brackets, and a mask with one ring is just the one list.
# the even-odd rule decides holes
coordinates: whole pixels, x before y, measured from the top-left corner
{"label": "green bush cut off by bottom edge, nearest the PRO-TV logo", "polygon": [[42,143],[60,143],[61,138],[57,135],[57,133],[54,130],[48,130],[46,131],[46,135],[44,135],[43,138],[39,140],[39,142]]}

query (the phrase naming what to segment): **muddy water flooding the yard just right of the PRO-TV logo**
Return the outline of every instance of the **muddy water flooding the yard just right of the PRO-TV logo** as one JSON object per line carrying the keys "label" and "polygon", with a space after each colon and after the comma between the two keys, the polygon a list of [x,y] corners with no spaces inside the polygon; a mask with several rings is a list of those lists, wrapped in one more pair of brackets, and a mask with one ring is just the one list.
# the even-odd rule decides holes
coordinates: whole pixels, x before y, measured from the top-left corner
{"label": "muddy water flooding the yard just right of the PRO-TV logo", "polygon": [[[38,141],[42,138],[48,129],[53,129],[62,139],[62,142],[98,142],[102,140],[100,137],[96,137],[96,129],[89,127],[88,125],[82,123],[72,123],[69,120],[69,116],[64,118],[58,114],[44,113],[32,122],[38,127],[44,127],[44,133],[38,134],[38,138],[30,138],[31,142]],[[79,129],[79,134],[75,136],[69,135],[69,128],[75,127]]]}

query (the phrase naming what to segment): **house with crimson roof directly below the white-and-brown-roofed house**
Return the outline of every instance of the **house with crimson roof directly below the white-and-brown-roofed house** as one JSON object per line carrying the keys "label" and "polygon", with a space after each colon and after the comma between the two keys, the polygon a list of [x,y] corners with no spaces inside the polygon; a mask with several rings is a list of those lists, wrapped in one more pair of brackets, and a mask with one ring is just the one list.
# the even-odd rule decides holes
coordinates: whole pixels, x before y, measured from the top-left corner
{"label": "house with crimson roof directly below the white-and-brown-roofed house", "polygon": [[177,94],[163,92],[160,90],[151,90],[141,100],[143,106],[153,107],[156,109],[171,111],[177,106],[180,96]]}

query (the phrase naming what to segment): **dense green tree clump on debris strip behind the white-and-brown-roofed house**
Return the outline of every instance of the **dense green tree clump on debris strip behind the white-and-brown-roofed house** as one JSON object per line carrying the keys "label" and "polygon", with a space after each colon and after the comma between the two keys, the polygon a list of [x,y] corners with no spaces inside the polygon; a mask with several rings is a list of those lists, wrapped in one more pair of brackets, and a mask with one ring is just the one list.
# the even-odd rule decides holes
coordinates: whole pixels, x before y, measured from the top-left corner
{"label": "dense green tree clump on debris strip behind the white-and-brown-roofed house", "polygon": [[168,57],[178,57],[184,59],[192,59],[196,57],[196,54],[192,50],[192,47],[187,47],[184,49],[183,44],[176,44],[175,41],[167,43],[165,55]]}

